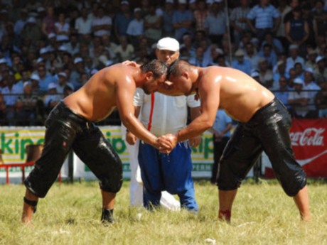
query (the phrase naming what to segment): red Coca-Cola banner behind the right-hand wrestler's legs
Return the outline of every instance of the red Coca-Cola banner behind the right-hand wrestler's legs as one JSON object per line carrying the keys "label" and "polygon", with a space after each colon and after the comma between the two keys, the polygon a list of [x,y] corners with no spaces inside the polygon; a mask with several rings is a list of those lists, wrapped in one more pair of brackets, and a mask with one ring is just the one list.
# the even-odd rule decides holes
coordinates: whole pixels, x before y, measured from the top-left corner
{"label": "red Coca-Cola banner behind the right-hand wrestler's legs", "polygon": [[[298,163],[308,177],[327,178],[327,119],[293,119],[291,145]],[[272,168],[266,178],[274,178]]]}

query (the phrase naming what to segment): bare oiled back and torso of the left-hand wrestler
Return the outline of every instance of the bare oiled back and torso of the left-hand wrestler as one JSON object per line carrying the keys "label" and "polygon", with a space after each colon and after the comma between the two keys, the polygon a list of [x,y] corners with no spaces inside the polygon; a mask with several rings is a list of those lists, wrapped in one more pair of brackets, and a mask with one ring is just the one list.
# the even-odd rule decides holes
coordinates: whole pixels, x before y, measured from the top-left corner
{"label": "bare oiled back and torso of the left-hand wrestler", "polygon": [[83,87],[66,97],[64,102],[85,119],[101,121],[107,118],[117,105],[117,86],[127,86],[132,99],[136,89],[132,77],[134,69],[120,64],[106,67],[93,75]]}

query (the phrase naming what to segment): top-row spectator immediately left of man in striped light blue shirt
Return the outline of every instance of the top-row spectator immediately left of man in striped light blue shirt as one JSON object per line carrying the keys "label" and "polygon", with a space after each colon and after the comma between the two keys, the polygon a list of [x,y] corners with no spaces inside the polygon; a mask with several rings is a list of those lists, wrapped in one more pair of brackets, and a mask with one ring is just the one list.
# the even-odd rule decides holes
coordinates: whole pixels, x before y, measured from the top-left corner
{"label": "top-row spectator immediately left of man in striped light blue shirt", "polygon": [[240,43],[243,33],[250,30],[247,25],[247,13],[250,12],[249,0],[241,0],[240,6],[232,9],[230,14],[230,26],[233,28],[234,43]]}

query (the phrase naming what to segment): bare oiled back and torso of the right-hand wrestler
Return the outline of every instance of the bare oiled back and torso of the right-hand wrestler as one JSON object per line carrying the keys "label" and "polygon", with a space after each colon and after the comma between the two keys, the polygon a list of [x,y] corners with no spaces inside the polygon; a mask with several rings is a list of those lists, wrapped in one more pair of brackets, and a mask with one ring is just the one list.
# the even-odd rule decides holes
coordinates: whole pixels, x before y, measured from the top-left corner
{"label": "bare oiled back and torso of the right-hand wrestler", "polygon": [[213,93],[219,92],[219,108],[225,109],[233,119],[241,122],[249,121],[258,109],[274,99],[274,94],[252,77],[228,67],[200,68],[200,94],[201,89],[205,88]]}

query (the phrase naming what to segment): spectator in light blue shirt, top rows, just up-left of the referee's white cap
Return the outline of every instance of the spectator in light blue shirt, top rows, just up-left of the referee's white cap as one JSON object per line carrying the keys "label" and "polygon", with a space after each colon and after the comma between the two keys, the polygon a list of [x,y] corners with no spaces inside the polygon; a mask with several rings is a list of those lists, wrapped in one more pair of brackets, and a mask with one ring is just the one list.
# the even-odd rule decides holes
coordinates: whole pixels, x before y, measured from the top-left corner
{"label": "spectator in light blue shirt, top rows, just up-left of the referee's white cap", "polygon": [[144,35],[144,18],[142,18],[142,11],[140,8],[134,9],[134,18],[127,27],[127,36],[129,42],[136,47],[139,40]]}

